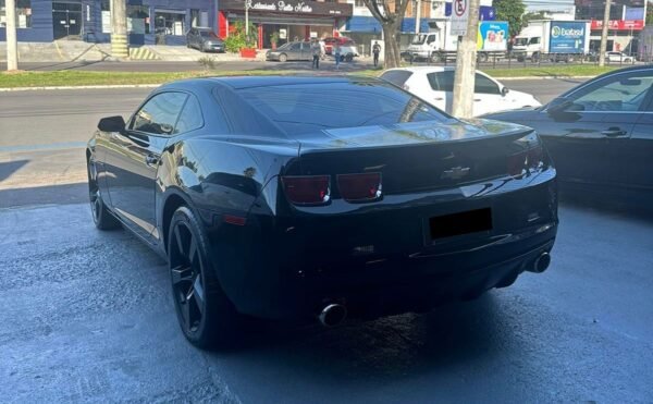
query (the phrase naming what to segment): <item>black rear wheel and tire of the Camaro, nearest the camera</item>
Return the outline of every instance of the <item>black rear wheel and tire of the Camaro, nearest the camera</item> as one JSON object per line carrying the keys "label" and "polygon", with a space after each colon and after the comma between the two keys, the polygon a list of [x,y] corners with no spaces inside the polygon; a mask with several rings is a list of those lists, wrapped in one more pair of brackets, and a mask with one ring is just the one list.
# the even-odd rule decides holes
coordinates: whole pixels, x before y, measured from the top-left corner
{"label": "black rear wheel and tire of the Camaro, nearest the camera", "polygon": [[241,333],[241,316],[217,280],[199,221],[182,206],[173,213],[169,229],[172,299],[184,336],[202,350],[233,347]]}

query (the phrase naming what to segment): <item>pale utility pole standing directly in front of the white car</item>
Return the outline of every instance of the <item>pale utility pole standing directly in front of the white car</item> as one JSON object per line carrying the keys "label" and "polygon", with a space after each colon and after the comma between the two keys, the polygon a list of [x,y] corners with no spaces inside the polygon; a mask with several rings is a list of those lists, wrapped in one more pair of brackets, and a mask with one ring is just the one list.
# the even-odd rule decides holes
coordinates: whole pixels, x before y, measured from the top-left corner
{"label": "pale utility pole standing directly in front of the white car", "polygon": [[452,109],[454,117],[463,119],[473,115],[473,87],[476,83],[480,0],[467,0],[467,7],[469,8],[467,33],[465,36],[458,37]]}

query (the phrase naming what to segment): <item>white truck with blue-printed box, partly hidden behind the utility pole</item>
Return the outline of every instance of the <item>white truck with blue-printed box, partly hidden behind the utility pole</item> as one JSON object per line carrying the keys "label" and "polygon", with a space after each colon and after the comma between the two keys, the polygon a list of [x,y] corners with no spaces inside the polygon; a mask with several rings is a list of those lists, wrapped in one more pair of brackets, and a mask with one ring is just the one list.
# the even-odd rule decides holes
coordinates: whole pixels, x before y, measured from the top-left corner
{"label": "white truck with blue-printed box, partly hidden behind the utility pole", "polygon": [[[455,60],[458,37],[451,34],[452,22],[448,19],[436,20],[430,24],[430,32],[416,34],[403,53],[406,59],[429,60],[433,63]],[[508,44],[508,23],[505,21],[481,21],[478,29],[477,57],[484,62],[489,59],[502,59],[506,56]]]}

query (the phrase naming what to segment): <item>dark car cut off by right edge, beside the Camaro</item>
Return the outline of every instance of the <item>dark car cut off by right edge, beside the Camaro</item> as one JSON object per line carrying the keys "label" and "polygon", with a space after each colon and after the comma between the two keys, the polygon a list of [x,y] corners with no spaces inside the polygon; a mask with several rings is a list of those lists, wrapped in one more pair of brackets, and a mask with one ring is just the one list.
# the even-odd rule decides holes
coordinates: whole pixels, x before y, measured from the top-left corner
{"label": "dark car cut off by right edge, beside the Camaro", "polygon": [[623,69],[541,108],[485,117],[534,127],[566,188],[611,191],[623,201],[645,205],[653,200],[652,86],[652,66]]}

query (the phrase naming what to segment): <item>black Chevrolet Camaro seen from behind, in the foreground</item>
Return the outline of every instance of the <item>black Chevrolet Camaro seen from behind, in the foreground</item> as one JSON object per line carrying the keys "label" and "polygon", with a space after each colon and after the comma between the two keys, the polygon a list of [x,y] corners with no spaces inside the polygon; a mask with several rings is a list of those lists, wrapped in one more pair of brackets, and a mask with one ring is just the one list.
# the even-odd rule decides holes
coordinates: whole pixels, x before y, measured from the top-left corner
{"label": "black Chevrolet Camaro seen from behind, in the foreground", "polygon": [[167,257],[195,345],[243,316],[424,311],[546,269],[556,172],[538,135],[362,77],[167,84],[87,149],[99,229]]}

